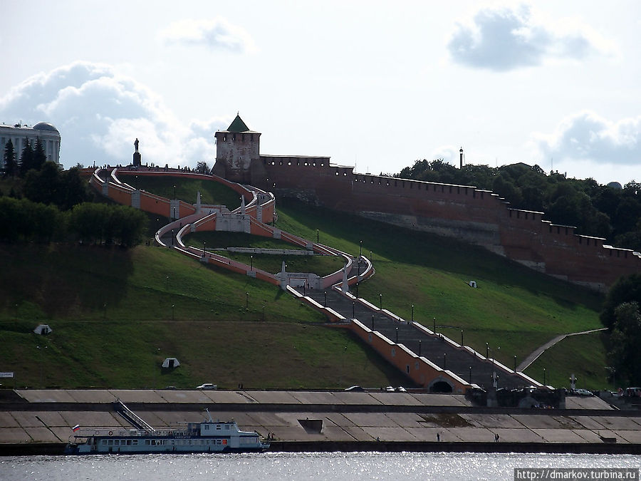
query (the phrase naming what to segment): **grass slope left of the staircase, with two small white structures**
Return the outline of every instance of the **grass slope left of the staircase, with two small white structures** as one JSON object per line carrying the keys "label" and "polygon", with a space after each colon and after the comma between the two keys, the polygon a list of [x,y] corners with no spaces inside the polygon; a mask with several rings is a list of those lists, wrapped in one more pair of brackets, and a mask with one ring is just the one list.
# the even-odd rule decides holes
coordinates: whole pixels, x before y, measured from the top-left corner
{"label": "grass slope left of the staircase, with two small white structures", "polygon": [[[0,244],[0,264],[0,370],[16,374],[10,387],[405,383],[283,291],[168,249]],[[32,333],[39,323],[53,333]],[[182,364],[163,372],[165,357]]]}

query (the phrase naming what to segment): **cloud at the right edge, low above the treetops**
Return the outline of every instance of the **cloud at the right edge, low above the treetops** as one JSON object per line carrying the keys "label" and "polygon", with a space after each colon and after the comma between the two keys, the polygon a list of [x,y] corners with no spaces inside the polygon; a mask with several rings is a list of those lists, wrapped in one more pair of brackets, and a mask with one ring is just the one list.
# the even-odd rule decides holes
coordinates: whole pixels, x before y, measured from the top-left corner
{"label": "cloud at the right edge, low above the treetops", "polygon": [[612,121],[584,110],[564,119],[554,133],[534,133],[531,145],[555,161],[641,165],[641,116]]}

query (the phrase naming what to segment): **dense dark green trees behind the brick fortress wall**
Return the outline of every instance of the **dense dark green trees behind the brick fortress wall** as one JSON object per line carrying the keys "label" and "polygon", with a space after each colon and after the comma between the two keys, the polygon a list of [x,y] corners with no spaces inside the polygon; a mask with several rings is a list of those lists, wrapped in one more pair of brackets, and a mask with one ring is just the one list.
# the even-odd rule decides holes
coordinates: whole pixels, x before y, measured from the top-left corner
{"label": "dense dark green trees behind the brick fortress wall", "polygon": [[616,247],[641,250],[641,184],[623,189],[593,179],[568,179],[558,172],[518,163],[503,167],[464,165],[443,160],[417,160],[395,177],[473,185],[504,197],[513,207],[545,212],[554,224],[577,227],[578,234],[605,237]]}

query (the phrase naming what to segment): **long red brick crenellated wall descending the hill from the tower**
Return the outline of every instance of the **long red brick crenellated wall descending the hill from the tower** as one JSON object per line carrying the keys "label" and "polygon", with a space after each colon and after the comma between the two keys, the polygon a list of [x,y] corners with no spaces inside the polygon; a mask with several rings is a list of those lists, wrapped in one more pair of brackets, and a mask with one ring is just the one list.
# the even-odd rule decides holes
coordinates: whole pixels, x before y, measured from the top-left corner
{"label": "long red brick crenellated wall descending the hill from the tower", "polygon": [[641,271],[641,255],[516,210],[487,190],[363,175],[329,157],[261,155],[251,183],[279,195],[477,244],[559,279],[605,291]]}

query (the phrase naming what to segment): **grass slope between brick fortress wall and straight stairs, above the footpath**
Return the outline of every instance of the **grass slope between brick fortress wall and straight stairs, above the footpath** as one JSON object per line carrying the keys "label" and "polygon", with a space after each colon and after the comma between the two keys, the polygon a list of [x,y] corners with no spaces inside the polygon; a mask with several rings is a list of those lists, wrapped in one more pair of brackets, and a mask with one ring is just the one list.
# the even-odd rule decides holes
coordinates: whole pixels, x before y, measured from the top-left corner
{"label": "grass slope between brick fortress wall and straight stairs, above the footpath", "polygon": [[[526,269],[480,247],[423,232],[370,222],[349,214],[299,202],[278,204],[279,228],[308,239],[374,259],[372,279],[359,295],[432,329],[444,332],[483,354],[514,366],[559,333],[598,329],[602,298],[592,291]],[[467,285],[470,280],[478,289]],[[382,298],[380,296],[382,294]],[[599,352],[583,360],[586,377],[602,382]],[[558,369],[563,370],[561,364]],[[598,374],[596,374],[598,373]],[[563,373],[569,377],[570,372]],[[542,381],[542,373],[534,377]]]}

